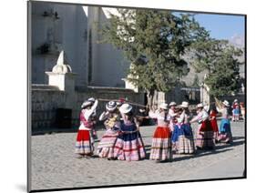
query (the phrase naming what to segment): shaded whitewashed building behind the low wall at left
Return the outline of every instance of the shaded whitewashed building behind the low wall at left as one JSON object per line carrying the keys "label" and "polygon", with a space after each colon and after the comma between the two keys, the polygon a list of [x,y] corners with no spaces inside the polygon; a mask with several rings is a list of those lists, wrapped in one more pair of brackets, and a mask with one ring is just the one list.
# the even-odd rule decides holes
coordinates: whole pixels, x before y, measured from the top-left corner
{"label": "shaded whitewashed building behind the low wall at left", "polygon": [[46,84],[46,71],[61,50],[77,73],[77,86],[124,87],[128,62],[108,44],[98,44],[98,30],[115,9],[33,2],[32,83]]}

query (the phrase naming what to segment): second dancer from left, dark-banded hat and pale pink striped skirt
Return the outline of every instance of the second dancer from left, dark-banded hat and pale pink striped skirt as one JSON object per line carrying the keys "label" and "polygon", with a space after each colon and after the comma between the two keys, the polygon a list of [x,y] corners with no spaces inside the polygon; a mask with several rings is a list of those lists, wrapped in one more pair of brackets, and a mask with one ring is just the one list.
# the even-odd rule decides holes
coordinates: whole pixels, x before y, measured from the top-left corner
{"label": "second dancer from left, dark-banded hat and pale pink striped skirt", "polygon": [[106,105],[106,109],[107,112],[104,111],[100,115],[99,120],[105,120],[104,125],[107,131],[97,145],[97,154],[98,157],[114,159],[114,146],[120,129],[120,117],[118,113],[118,106],[115,101],[109,101]]}

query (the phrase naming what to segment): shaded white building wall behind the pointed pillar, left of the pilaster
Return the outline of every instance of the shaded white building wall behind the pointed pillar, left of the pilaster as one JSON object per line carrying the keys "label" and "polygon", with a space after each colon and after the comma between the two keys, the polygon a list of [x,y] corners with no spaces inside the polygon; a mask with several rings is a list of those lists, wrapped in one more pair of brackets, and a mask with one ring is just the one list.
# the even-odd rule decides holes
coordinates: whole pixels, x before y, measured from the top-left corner
{"label": "shaded white building wall behind the pointed pillar, left of the pilaster", "polygon": [[[57,12],[59,19],[44,17],[44,12]],[[53,36],[49,36],[49,32]],[[48,35],[47,35],[48,34]],[[87,15],[82,6],[32,3],[32,83],[46,84],[46,71],[56,64],[57,54],[41,55],[36,48],[53,39],[65,50],[73,72],[79,72],[76,84],[87,83]]]}

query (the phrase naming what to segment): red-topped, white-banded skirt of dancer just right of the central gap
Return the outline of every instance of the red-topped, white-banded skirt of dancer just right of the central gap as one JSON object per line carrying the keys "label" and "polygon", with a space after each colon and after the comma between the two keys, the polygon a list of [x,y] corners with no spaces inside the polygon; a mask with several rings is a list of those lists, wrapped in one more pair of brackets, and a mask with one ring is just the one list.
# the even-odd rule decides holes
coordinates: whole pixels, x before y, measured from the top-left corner
{"label": "red-topped, white-banded skirt of dancer just right of the central gap", "polygon": [[172,154],[169,127],[157,127],[152,139],[149,159],[161,161],[171,158]]}

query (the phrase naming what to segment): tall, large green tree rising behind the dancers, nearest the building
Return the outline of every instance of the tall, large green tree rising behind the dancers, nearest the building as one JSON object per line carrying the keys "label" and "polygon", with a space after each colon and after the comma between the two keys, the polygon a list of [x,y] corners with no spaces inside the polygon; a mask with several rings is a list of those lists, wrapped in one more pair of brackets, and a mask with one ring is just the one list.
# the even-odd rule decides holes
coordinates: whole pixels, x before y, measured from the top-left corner
{"label": "tall, large green tree rising behind the dancers, nearest the building", "polygon": [[189,73],[186,48],[209,37],[193,15],[142,9],[118,9],[101,32],[100,42],[121,49],[131,62],[128,80],[145,89],[149,106],[155,91],[169,91]]}

